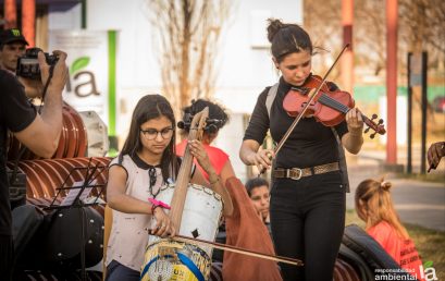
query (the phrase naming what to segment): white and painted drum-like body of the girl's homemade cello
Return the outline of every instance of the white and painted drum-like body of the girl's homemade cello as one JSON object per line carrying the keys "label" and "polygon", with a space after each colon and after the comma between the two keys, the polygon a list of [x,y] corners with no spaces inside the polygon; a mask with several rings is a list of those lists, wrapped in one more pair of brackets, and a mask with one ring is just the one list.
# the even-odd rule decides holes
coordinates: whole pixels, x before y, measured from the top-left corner
{"label": "white and painted drum-like body of the girl's homemade cello", "polygon": [[[164,185],[157,199],[170,204],[174,187],[173,184]],[[222,209],[223,203],[219,194],[210,188],[189,184],[178,233],[214,241]],[[169,212],[169,210],[165,211]],[[156,228],[154,218],[152,218],[150,228]],[[191,243],[150,235],[141,269],[141,280],[208,280],[211,256],[210,246],[198,247]]]}

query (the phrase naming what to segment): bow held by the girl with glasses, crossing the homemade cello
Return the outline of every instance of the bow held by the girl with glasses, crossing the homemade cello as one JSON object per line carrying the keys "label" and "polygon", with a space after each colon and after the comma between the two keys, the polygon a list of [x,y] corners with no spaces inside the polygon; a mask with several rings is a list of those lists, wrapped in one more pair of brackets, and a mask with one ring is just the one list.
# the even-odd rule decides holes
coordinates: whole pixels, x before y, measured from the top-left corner
{"label": "bow held by the girl with glasses, crossing the homemade cello", "polygon": [[[148,233],[151,233],[151,230],[148,230]],[[257,257],[257,258],[262,258],[262,259],[269,259],[273,261],[279,261],[283,264],[288,264],[293,266],[304,266],[304,262],[299,259],[296,258],[288,258],[288,257],[283,257],[283,256],[274,256],[274,255],[269,255],[269,254],[263,254],[250,249],[245,249],[232,245],[226,245],[226,244],[221,244],[218,242],[211,242],[207,240],[200,240],[200,239],[194,239],[194,237],[188,237],[184,235],[176,234],[174,237],[171,237],[171,240],[175,240],[178,242],[184,242],[184,243],[195,243],[195,244],[203,244],[206,246],[211,246],[213,248],[222,249],[222,251],[227,251],[236,254],[242,254],[250,257]]]}

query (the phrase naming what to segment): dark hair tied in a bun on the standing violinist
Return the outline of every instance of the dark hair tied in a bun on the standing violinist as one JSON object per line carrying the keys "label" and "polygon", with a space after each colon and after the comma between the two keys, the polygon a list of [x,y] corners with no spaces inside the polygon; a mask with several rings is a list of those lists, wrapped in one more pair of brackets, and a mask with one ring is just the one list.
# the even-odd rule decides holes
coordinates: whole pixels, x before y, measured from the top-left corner
{"label": "dark hair tied in a bun on the standing violinist", "polygon": [[312,54],[313,47],[309,34],[298,24],[285,24],[280,20],[269,19],[268,39],[272,44],[272,56],[280,63],[284,57],[300,51]]}

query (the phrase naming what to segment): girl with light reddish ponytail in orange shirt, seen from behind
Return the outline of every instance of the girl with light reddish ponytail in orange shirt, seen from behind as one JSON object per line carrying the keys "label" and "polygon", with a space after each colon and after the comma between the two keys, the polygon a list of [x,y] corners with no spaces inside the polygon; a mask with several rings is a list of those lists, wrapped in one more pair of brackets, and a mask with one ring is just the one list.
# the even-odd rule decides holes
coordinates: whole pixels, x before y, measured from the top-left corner
{"label": "girl with light reddish ponytail in orange shirt, seen from behind", "polygon": [[392,184],[383,180],[364,180],[356,190],[356,210],[367,225],[366,230],[400,265],[403,269],[423,281],[422,260],[401,224],[391,197]]}

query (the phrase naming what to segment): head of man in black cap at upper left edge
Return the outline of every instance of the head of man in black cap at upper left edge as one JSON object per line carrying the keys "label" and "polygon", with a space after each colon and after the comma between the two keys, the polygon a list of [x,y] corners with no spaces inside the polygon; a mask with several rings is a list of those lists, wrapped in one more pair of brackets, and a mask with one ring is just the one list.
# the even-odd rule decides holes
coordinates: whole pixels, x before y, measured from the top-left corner
{"label": "head of man in black cap at upper left edge", "polygon": [[0,34],[0,68],[15,75],[17,59],[25,54],[27,45],[20,29],[2,30]]}

